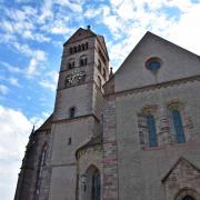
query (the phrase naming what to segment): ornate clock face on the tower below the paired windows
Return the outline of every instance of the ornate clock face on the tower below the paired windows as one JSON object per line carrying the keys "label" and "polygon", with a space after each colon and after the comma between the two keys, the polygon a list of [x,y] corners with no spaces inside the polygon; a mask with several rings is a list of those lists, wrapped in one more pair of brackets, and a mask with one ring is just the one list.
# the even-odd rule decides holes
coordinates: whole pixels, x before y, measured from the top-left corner
{"label": "ornate clock face on the tower below the paired windows", "polygon": [[71,74],[69,74],[66,79],[66,86],[74,86],[80,84],[86,79],[86,72],[84,71],[73,71]]}

